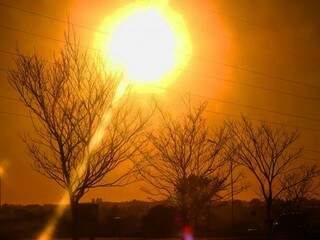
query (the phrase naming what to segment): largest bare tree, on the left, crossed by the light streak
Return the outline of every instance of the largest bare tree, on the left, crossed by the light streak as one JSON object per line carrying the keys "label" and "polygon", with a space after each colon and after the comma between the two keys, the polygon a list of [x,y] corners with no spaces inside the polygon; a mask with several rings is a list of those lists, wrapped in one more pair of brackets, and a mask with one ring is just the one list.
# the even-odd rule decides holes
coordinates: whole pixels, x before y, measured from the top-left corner
{"label": "largest bare tree, on the left, crossed by the light streak", "polygon": [[[117,96],[120,77],[110,74],[98,55],[69,34],[65,40],[50,62],[36,53],[19,55],[9,81],[33,121],[35,134],[24,139],[33,166],[68,193],[76,239],[80,199],[90,188],[128,183],[133,169],[128,161],[142,146],[147,118]],[[110,179],[119,167],[124,173]]]}

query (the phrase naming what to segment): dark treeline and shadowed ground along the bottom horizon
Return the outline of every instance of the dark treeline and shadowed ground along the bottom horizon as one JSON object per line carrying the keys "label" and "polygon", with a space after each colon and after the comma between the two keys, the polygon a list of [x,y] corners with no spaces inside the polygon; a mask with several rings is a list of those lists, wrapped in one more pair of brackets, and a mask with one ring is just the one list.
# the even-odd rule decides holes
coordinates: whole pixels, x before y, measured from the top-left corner
{"label": "dark treeline and shadowed ground along the bottom horizon", "polygon": [[[263,233],[264,203],[258,199],[217,203],[197,226],[203,236],[259,235]],[[0,209],[0,239],[35,237],[52,216],[55,205],[4,205]],[[278,201],[275,231],[315,231],[320,227],[320,201],[308,200],[300,212],[287,212]],[[166,202],[82,203],[79,208],[79,235],[83,237],[179,237],[180,216]],[[57,237],[69,237],[70,211],[59,222]],[[297,233],[295,233],[297,234]]]}

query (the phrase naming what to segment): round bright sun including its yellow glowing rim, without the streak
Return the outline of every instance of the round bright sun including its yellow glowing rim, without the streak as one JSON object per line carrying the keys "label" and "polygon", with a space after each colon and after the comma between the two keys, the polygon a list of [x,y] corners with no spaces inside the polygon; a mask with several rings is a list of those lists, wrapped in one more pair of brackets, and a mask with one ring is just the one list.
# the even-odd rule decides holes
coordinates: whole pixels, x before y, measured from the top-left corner
{"label": "round bright sun including its yellow glowing rim, without the streak", "polygon": [[183,18],[167,1],[138,1],[105,19],[95,47],[107,63],[138,85],[167,85],[191,57],[191,42]]}

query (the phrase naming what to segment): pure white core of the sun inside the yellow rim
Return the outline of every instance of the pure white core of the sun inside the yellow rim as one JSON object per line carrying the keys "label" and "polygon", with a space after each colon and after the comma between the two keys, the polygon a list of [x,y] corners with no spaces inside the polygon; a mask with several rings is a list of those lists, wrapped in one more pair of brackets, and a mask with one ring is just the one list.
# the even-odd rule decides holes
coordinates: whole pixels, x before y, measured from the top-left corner
{"label": "pure white core of the sun inside the yellow rim", "polygon": [[135,81],[158,79],[175,64],[174,33],[155,9],[138,10],[121,22],[108,47],[111,60],[124,64]]}

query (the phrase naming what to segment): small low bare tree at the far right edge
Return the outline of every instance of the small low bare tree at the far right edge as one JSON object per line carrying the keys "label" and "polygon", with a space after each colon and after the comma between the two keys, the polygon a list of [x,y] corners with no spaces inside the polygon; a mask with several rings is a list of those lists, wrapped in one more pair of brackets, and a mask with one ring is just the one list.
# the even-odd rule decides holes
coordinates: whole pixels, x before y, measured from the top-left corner
{"label": "small low bare tree at the far right edge", "polygon": [[[319,170],[316,165],[302,166],[297,171],[283,176],[280,198],[284,201],[284,211],[301,211],[303,202],[319,194]],[[294,184],[293,184],[294,183]]]}

